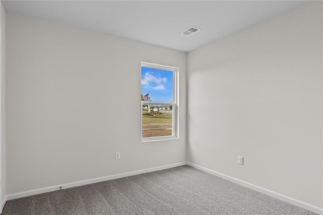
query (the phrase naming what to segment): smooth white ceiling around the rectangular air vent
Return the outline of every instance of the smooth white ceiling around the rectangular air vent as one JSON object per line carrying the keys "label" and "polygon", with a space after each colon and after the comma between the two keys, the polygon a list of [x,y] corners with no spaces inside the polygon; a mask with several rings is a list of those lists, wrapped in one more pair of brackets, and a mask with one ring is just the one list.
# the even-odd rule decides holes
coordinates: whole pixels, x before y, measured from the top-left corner
{"label": "smooth white ceiling around the rectangular air vent", "polygon": [[[2,1],[7,11],[190,51],[304,1]],[[201,31],[180,34],[194,26]]]}

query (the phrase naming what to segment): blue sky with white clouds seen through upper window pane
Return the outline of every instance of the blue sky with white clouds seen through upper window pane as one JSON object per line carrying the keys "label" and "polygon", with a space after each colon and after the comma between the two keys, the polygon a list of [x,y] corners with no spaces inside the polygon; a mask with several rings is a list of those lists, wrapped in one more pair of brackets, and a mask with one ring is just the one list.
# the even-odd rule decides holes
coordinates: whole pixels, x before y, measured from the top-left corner
{"label": "blue sky with white clouds seen through upper window pane", "polygon": [[152,101],[173,101],[173,72],[141,67],[141,93]]}

